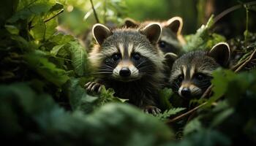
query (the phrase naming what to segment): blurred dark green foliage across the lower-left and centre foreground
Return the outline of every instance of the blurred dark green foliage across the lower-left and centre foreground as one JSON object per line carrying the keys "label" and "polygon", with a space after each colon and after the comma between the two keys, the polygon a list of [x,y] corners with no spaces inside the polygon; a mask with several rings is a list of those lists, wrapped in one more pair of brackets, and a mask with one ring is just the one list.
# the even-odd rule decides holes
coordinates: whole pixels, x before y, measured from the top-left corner
{"label": "blurred dark green foliage across the lower-left and centre foreground", "polygon": [[106,104],[90,115],[65,112],[28,83],[1,85],[0,97],[1,134],[11,144],[160,145],[172,137],[159,120],[127,104]]}

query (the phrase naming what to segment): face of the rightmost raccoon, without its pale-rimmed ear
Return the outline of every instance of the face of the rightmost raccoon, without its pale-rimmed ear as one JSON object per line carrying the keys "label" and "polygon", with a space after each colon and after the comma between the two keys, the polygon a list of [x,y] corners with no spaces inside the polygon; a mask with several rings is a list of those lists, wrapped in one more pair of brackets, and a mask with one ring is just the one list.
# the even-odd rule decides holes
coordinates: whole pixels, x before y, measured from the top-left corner
{"label": "face of the rightmost raccoon, without its pale-rimmed ear", "polygon": [[219,65],[202,51],[185,54],[173,64],[171,82],[179,96],[200,96],[211,85],[211,72]]}

